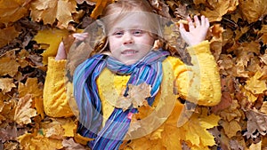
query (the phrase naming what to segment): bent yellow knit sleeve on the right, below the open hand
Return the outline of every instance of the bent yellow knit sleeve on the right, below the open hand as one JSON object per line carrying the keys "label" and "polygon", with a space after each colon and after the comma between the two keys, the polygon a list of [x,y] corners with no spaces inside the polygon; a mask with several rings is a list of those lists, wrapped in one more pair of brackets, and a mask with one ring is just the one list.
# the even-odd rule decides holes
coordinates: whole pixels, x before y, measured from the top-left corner
{"label": "bent yellow knit sleeve on the right, below the open hand", "polygon": [[[174,63],[175,87],[190,102],[214,106],[221,100],[221,81],[207,41],[188,48],[192,66]],[[176,67],[175,67],[176,66]]]}

